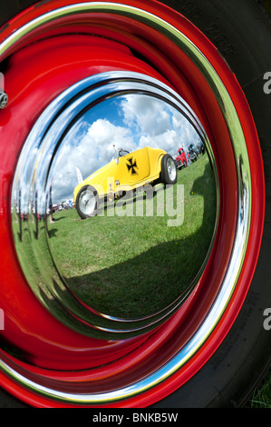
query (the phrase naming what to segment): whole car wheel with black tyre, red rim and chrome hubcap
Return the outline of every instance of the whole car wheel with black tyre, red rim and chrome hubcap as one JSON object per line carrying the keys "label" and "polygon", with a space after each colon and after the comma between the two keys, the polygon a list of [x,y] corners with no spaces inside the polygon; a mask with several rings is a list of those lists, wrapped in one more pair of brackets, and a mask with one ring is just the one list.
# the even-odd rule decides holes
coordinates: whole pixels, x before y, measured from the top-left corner
{"label": "whole car wheel with black tyre, red rim and chrome hubcap", "polygon": [[[1,0],[0,10],[1,406],[245,405],[265,378],[271,354],[265,322],[271,307],[271,28],[266,11],[255,0]],[[66,235],[57,252],[56,225],[47,221],[56,161],[67,153],[77,160],[82,114],[99,109],[115,91],[122,102],[139,96],[136,119],[140,114],[142,119],[150,97],[165,102],[164,123],[176,117],[169,115],[172,108],[181,111],[204,141],[210,167],[200,166],[205,155],[191,168],[197,174],[193,187],[185,184],[191,207],[185,218],[198,213],[211,173],[216,190],[210,199],[214,233],[185,293],[155,313],[125,319],[88,306],[70,288],[65,260],[61,267],[58,263]],[[100,112],[101,120],[94,121],[91,113],[88,124],[95,123],[98,132],[87,129],[84,136],[98,145],[103,141],[99,124],[108,120],[102,122]],[[110,108],[107,114],[111,117]],[[152,141],[159,125],[152,129]],[[168,128],[169,143],[175,130]],[[95,147],[92,153],[95,163]],[[80,154],[88,159],[83,150]],[[166,167],[163,174],[169,174]],[[61,195],[69,176],[56,183],[63,185]],[[39,204],[44,221],[37,233],[34,206]],[[23,205],[31,218],[25,223]],[[208,225],[204,207],[199,214]],[[205,229],[193,225],[192,237],[202,239]],[[99,236],[96,247],[104,240]],[[197,242],[185,240],[191,252]],[[137,256],[133,241],[130,246]],[[183,251],[178,240],[160,243],[160,260],[171,246],[175,253],[178,248],[176,264],[181,264],[187,245]],[[157,258],[156,248],[150,253]],[[95,263],[95,250],[88,254]],[[80,274],[89,267],[85,264]],[[103,282],[111,283],[111,270],[105,273]],[[95,291],[101,291],[97,283]]]}

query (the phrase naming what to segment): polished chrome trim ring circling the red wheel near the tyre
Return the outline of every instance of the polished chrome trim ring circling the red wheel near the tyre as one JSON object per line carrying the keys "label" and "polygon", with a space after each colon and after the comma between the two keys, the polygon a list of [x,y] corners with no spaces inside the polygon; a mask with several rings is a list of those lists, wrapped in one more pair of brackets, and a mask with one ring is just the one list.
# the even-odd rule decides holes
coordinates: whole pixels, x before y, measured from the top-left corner
{"label": "polished chrome trim ring circling the red wheel near the tyre", "polygon": [[[244,255],[247,249],[247,235],[249,233],[250,226],[251,204],[251,176],[247,156],[246,140],[241,124],[238,120],[235,106],[232,103],[229,94],[227,94],[227,90],[223,82],[220,80],[217,72],[212,67],[212,65],[208,63],[208,60],[204,55],[202,55],[198,47],[193,45],[193,43],[191,43],[186,35],[181,34],[179,30],[161,20],[159,17],[151,15],[150,13],[146,13],[145,11],[132,6],[113,4],[110,2],[92,2],[70,5],[35,19],[33,22],[17,30],[13,35],[5,40],[2,46],[0,46],[0,52],[3,54],[8,53],[9,49],[15,47],[16,45],[20,45],[21,42],[24,42],[24,37],[30,34],[31,31],[38,29],[39,27],[42,28],[44,23],[48,24],[53,21],[57,23],[57,19],[65,15],[92,13],[96,11],[110,12],[111,14],[117,15],[121,14],[130,16],[138,21],[144,21],[145,25],[150,25],[164,35],[168,36],[171,41],[173,41],[177,46],[179,46],[179,48],[185,51],[192,59],[192,61],[198,65],[208,84],[212,88],[213,93],[216,94],[221,112],[224,114],[225,120],[227,122],[227,127],[231,135],[233,149],[236,156],[237,179],[240,192],[236,242],[234,245],[232,258],[227,269],[227,274],[225,276],[224,283],[221,286],[218,297],[210,312],[208,313],[205,321],[199,325],[198,331],[194,334],[193,337],[190,338],[189,343],[187,343],[178,354],[172,357],[169,362],[165,363],[163,367],[158,369],[157,372],[153,372],[148,378],[140,382],[135,382],[134,384],[128,385],[127,387],[122,388],[120,386],[119,390],[93,393],[87,392],[86,388],[86,392],[81,394],[75,392],[63,392],[61,390],[57,390],[57,387],[53,390],[52,387],[47,387],[44,385],[44,379],[42,375],[36,375],[35,379],[33,380],[27,378],[26,373],[23,375],[23,373],[15,371],[11,363],[9,361],[5,362],[4,358],[1,362],[1,369],[3,372],[5,372],[7,375],[10,375],[15,381],[22,383],[25,387],[34,390],[34,392],[44,394],[47,397],[59,401],[79,404],[89,403],[93,405],[99,403],[102,404],[116,402],[118,400],[137,395],[140,392],[150,390],[151,387],[165,381],[171,374],[176,372],[179,367],[183,366],[185,362],[187,362],[189,358],[191,358],[193,354],[197,352],[198,348],[208,339],[209,334],[227,308],[227,303],[229,302],[237,284],[238,275],[240,273]],[[51,106],[51,109],[56,112],[57,104],[54,103]],[[48,154],[53,153],[50,153],[49,150]],[[30,155],[30,157],[34,160],[33,151],[28,152],[28,155]],[[31,162],[29,162],[29,164],[31,164]],[[39,190],[43,188],[44,184],[41,182],[39,176],[36,176],[35,174],[33,174],[33,176],[32,194],[34,194],[35,189],[37,189],[39,192]],[[15,181],[15,188],[18,194],[20,192],[20,186],[16,186],[17,184],[17,181]]]}

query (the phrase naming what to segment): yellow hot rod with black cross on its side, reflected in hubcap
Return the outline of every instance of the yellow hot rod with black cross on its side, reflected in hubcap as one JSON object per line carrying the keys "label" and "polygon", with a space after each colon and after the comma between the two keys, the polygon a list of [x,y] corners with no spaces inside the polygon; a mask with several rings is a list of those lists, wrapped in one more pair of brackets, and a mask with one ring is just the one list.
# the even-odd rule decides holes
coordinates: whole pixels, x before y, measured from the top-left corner
{"label": "yellow hot rod with black cross on its side, reflected in hubcap", "polygon": [[100,202],[113,200],[147,184],[175,184],[176,164],[170,154],[144,147],[132,153],[119,150],[109,164],[91,174],[74,189],[74,202],[82,219],[95,216]]}

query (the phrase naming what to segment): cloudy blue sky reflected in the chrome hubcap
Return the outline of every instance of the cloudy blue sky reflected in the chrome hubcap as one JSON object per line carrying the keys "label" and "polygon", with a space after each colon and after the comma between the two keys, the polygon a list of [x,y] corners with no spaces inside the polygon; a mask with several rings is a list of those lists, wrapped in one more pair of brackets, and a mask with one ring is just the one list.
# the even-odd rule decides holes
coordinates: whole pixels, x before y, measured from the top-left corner
{"label": "cloudy blue sky reflected in the chrome hubcap", "polygon": [[157,98],[126,94],[105,100],[82,115],[65,136],[53,165],[53,202],[73,197],[75,166],[85,179],[109,163],[116,149],[132,152],[148,145],[173,155],[180,146],[197,141],[188,120]]}

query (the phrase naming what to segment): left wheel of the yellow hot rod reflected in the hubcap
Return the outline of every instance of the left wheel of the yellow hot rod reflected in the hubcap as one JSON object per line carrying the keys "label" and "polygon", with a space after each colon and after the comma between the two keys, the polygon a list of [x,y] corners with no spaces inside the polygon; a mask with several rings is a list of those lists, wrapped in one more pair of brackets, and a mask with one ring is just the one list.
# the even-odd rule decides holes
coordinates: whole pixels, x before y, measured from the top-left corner
{"label": "left wheel of the yellow hot rod reflected in the hubcap", "polygon": [[82,219],[97,214],[99,195],[92,185],[84,185],[76,197],[76,210]]}

